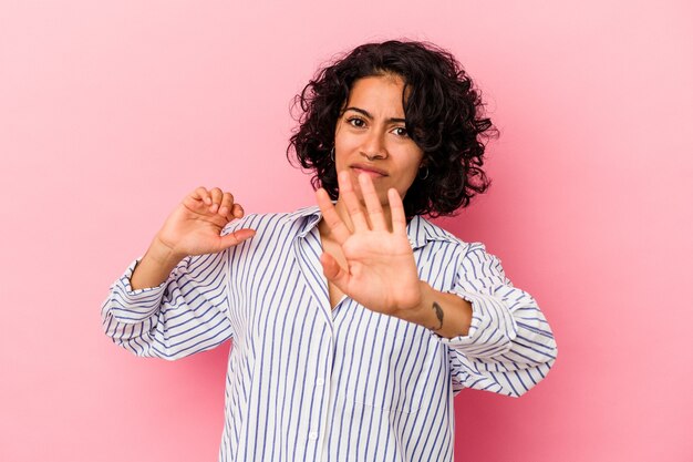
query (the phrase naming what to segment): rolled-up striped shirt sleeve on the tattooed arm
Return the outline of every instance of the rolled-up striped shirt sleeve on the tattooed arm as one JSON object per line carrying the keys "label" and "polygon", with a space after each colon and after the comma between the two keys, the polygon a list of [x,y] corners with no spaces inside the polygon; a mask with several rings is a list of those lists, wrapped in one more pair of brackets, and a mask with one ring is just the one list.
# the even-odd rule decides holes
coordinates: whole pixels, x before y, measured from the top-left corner
{"label": "rolled-up striped shirt sleeve on the tattooed arm", "polygon": [[500,260],[483,244],[469,244],[452,292],[472,304],[466,336],[441,341],[449,348],[453,391],[464,388],[519,397],[556,361],[554,333],[536,300],[513,287]]}

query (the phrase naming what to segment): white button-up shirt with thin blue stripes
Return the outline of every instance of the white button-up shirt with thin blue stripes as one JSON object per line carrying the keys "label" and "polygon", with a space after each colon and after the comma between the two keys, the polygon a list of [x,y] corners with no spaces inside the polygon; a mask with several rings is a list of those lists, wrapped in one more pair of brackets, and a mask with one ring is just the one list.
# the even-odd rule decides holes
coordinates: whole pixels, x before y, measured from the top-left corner
{"label": "white button-up shirt with thin blue stripes", "polygon": [[482,244],[422,217],[407,234],[420,277],[468,300],[467,336],[371,311],[330,308],[318,207],[248,215],[257,235],[185,258],[167,281],[111,287],[106,333],[143,357],[177,359],[232,339],[220,461],[452,461],[453,397],[518,397],[546,377],[556,343],[534,298]]}

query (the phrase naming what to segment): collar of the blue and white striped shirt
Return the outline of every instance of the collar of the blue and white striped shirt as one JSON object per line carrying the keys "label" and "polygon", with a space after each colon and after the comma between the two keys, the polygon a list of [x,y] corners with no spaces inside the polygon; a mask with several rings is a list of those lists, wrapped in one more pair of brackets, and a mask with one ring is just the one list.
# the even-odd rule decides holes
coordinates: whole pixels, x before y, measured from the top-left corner
{"label": "collar of the blue and white striped shirt", "polygon": [[[322,219],[322,213],[320,212],[320,207],[318,207],[317,205],[311,205],[287,214],[283,223],[290,224],[296,222],[302,222],[298,237],[304,237],[316,226],[318,226],[320,219]],[[433,223],[428,222],[426,218],[420,215],[415,215],[406,225],[406,235],[408,237],[410,244],[412,245],[412,248],[415,249],[425,246],[428,242],[432,240],[457,240],[455,236],[441,228],[439,226],[434,225]]]}

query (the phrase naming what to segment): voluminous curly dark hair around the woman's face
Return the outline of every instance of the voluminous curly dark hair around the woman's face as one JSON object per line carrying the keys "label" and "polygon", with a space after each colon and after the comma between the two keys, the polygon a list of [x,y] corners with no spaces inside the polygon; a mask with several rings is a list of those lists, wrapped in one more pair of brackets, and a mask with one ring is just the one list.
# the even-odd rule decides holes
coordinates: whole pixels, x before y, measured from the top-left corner
{"label": "voluminous curly dark hair around the woman's face", "polygon": [[[482,170],[486,142],[498,134],[484,116],[480,92],[448,51],[430,42],[390,40],[362,44],[319,69],[293,100],[299,127],[287,147],[301,167],[314,171],[313,188],[339,195],[330,151],[334,130],[354,82],[396,74],[404,81],[402,105],[406,131],[424,152],[427,175],[417,175],[404,197],[407,218],[454,215],[486,192],[490,179]],[[407,97],[405,97],[405,94]]]}

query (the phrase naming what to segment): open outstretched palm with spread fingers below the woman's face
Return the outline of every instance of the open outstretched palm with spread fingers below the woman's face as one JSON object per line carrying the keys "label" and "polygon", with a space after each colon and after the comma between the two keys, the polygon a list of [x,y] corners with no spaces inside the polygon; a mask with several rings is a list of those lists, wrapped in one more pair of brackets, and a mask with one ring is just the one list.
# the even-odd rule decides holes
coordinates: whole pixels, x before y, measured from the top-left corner
{"label": "open outstretched palm with spread fingers below the woman's face", "polygon": [[320,263],[325,277],[373,311],[397,316],[416,308],[422,300],[422,289],[406,235],[406,216],[400,193],[394,188],[387,191],[391,214],[391,223],[387,223],[370,176],[359,176],[365,209],[356,197],[349,173],[340,172],[338,179],[340,198],[353,230],[339,216],[328,193],[318,189],[318,205],[324,222],[346,260],[343,268],[332,255],[322,254]]}

